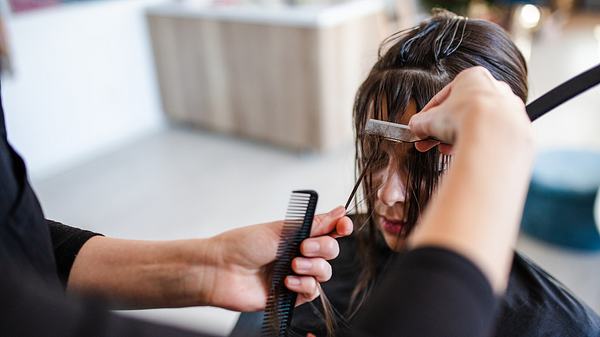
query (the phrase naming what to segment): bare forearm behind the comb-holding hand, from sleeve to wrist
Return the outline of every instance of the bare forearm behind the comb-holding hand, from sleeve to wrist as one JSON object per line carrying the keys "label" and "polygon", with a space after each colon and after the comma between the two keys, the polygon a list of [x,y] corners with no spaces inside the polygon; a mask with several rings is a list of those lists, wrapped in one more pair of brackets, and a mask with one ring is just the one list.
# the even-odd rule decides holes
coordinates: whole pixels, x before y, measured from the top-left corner
{"label": "bare forearm behind the comb-holding hand, from sleeve to wrist", "polygon": [[73,263],[68,290],[109,298],[119,308],[206,305],[215,268],[209,240],[92,238]]}

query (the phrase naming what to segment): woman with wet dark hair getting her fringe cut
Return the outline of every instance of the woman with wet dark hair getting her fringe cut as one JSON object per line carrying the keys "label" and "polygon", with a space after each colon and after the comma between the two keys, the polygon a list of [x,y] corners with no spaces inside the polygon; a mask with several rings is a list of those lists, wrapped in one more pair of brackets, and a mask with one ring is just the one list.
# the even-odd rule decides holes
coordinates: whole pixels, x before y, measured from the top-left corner
{"label": "woman with wet dark hair getting her fringe cut", "polygon": [[[474,66],[486,68],[526,102],[525,60],[493,23],[435,10],[430,19],[382,44],[354,105],[356,168],[367,170],[362,196],[352,207],[355,234],[340,240],[333,277],[323,285],[332,312],[323,313],[320,300],[297,307],[292,328],[298,335],[331,335],[327,327],[332,322],[338,328],[352,326],[389,262],[403,254],[407,238],[452,164],[451,156],[439,150],[421,153],[413,144],[366,136],[367,120],[408,124],[438,91]],[[600,336],[600,318],[559,281],[515,253],[494,335]]]}

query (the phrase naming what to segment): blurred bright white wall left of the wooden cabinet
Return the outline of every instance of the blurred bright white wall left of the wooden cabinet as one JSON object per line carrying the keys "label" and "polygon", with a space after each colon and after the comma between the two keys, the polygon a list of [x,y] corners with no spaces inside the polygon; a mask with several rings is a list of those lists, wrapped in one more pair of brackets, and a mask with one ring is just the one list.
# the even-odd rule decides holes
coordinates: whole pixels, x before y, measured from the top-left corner
{"label": "blurred bright white wall left of the wooden cabinet", "polygon": [[2,97],[9,140],[34,179],[163,126],[143,12],[162,1],[8,15],[15,74],[2,79]]}

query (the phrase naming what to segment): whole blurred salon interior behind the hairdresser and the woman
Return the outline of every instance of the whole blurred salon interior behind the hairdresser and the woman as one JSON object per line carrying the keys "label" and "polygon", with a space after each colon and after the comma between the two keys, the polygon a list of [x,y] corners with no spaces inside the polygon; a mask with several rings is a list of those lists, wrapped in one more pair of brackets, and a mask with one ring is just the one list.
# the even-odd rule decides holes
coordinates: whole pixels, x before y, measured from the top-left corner
{"label": "whole blurred salon interior behind the hairdresser and the woman", "polygon": [[[530,100],[600,62],[600,0],[3,0],[9,140],[47,217],[136,239],[343,204],[351,108],[389,34],[443,7],[510,32]],[[600,311],[600,89],[536,121],[518,249]],[[493,179],[493,177],[490,177]],[[228,333],[238,313],[126,312]]]}

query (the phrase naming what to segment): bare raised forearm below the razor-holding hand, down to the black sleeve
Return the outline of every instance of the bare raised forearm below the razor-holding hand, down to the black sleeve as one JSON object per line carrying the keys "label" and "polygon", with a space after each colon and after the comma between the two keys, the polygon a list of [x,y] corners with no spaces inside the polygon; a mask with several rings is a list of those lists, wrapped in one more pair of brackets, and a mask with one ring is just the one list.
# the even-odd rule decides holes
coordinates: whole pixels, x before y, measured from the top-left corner
{"label": "bare raised forearm below the razor-holding hand, down to the black sleeve", "polygon": [[524,124],[477,115],[455,144],[452,167],[412,237],[466,256],[501,292],[512,259],[533,146]]}

